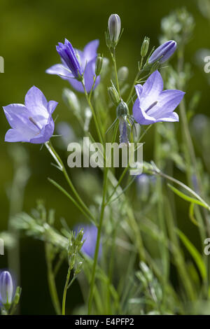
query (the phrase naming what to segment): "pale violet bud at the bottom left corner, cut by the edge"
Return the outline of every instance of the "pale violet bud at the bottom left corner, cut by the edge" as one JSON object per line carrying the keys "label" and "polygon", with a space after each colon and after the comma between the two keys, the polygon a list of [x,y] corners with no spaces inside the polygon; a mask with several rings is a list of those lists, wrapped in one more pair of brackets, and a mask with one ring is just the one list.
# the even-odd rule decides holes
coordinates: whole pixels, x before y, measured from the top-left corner
{"label": "pale violet bud at the bottom left corner, cut by the edge", "polygon": [[0,275],[0,296],[2,304],[11,304],[13,301],[13,279],[8,271]]}

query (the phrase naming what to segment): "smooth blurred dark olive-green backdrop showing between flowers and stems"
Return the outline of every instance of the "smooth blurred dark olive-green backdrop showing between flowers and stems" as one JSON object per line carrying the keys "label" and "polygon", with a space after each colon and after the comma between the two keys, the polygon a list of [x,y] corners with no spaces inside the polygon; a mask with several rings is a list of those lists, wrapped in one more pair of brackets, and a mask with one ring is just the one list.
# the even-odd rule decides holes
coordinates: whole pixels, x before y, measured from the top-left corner
{"label": "smooth blurred dark olive-green backdrop showing between flowers and stems", "polygon": [[[0,55],[5,60],[5,73],[1,73],[0,105],[23,103],[24,97],[32,85],[40,88],[48,100],[59,102],[56,114],[57,122],[69,120],[69,110],[62,100],[63,87],[69,87],[66,81],[57,76],[50,76],[45,69],[59,62],[55,50],[58,41],[68,38],[76,48],[93,40],[100,39],[99,52],[108,57],[109,53],[104,41],[104,31],[111,13],[120,15],[125,29],[117,49],[118,66],[128,66],[130,69],[129,81],[132,83],[137,71],[137,61],[141,42],[144,36],[151,38],[152,45],[158,45],[160,36],[160,21],[172,10],[186,6],[195,18],[195,33],[186,49],[186,60],[192,64],[193,78],[188,90],[192,96],[196,90],[202,92],[198,113],[209,115],[209,85],[207,74],[195,64],[195,52],[200,48],[210,48],[209,21],[205,19],[197,8],[197,1],[193,0],[160,0],[160,1],[71,1],[71,0],[1,0],[0,6]],[[209,73],[210,74],[210,73]],[[188,94],[186,95],[188,99]],[[71,122],[69,122],[71,124]],[[9,215],[9,200],[6,191],[13,181],[13,162],[8,153],[8,144],[4,142],[4,135],[8,130],[8,123],[0,112],[0,231],[6,230]],[[76,133],[76,132],[75,132]],[[69,204],[53,186],[47,181],[59,175],[55,168],[50,166],[50,155],[45,148],[25,144],[29,152],[29,167],[31,176],[25,192],[23,209],[30,211],[36,206],[37,199],[43,199],[47,208],[56,209],[57,221],[60,217],[66,218],[69,225],[80,218],[75,207]],[[144,146],[145,160],[153,156],[153,132],[146,137]],[[66,161],[66,153],[63,153]],[[78,172],[73,175],[76,182]],[[62,181],[62,177],[57,181]],[[179,217],[184,219],[185,212],[179,209]],[[191,224],[189,221],[186,225]],[[196,239],[196,238],[195,238]],[[21,240],[21,285],[23,289],[22,314],[53,314],[52,304],[48,293],[45,258],[43,244],[27,237]],[[0,256],[0,268],[7,266],[7,253]],[[62,290],[66,267],[62,268],[57,283]],[[30,302],[29,302],[30,301]],[[68,295],[68,304],[80,304],[81,295],[77,283],[74,284]]]}

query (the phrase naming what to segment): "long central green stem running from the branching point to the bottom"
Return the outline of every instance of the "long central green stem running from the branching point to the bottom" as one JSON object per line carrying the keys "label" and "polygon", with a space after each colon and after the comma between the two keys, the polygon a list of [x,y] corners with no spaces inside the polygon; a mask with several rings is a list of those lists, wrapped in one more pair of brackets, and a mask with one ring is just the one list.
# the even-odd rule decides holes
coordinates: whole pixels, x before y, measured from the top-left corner
{"label": "long central green stem running from the branching point to the bottom", "polygon": [[88,300],[88,314],[91,313],[92,309],[92,298],[93,298],[93,292],[94,292],[94,281],[95,281],[95,272],[97,267],[97,260],[99,255],[99,246],[100,246],[100,239],[101,239],[101,233],[102,233],[102,223],[104,218],[104,210],[106,207],[105,197],[106,197],[106,186],[107,186],[107,174],[108,174],[108,168],[105,167],[104,169],[104,187],[103,187],[103,197],[102,197],[102,208],[101,208],[101,214],[99,218],[99,227],[97,232],[97,243],[96,248],[94,251],[94,260],[92,265],[92,279],[90,283],[90,295]]}

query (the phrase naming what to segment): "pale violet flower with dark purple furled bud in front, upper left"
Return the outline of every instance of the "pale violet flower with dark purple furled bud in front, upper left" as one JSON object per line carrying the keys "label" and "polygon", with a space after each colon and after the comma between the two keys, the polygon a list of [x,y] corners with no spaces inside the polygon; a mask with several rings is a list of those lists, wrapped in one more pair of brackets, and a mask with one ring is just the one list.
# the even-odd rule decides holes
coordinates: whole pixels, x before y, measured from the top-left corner
{"label": "pale violet flower with dark purple furled bud in front, upper left", "polygon": [[[55,74],[64,80],[69,80],[72,87],[78,92],[84,92],[81,76],[84,78],[85,89],[90,92],[94,83],[95,64],[97,60],[97,48],[99,41],[90,41],[85,45],[83,51],[72,47],[71,43],[65,39],[64,43],[56,46],[57,52],[62,60],[62,64],[55,64],[46,70],[46,73]],[[98,76],[95,87],[99,84]]]}

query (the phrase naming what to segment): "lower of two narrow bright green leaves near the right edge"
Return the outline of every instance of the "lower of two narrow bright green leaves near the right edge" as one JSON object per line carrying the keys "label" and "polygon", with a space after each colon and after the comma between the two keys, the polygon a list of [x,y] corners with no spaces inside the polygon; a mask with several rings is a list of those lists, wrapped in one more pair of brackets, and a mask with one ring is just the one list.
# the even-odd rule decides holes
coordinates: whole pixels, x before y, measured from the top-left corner
{"label": "lower of two narrow bright green leaves near the right edge", "polygon": [[190,242],[188,237],[181,232],[178,228],[176,228],[176,232],[179,235],[179,238],[183,242],[183,244],[186,246],[188,249],[190,255],[193,257],[193,260],[195,260],[195,263],[197,265],[197,268],[200,271],[200,274],[202,276],[202,279],[206,279],[207,277],[207,269],[205,267],[204,261],[202,260],[202,255],[200,254],[199,251],[197,251],[197,248],[193,246],[193,244]]}

